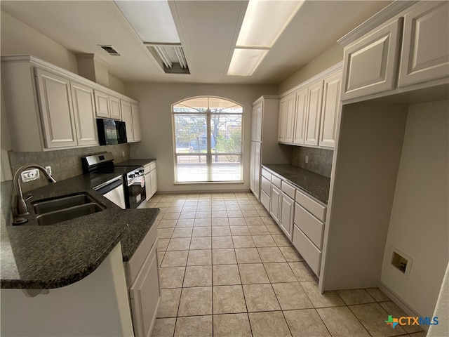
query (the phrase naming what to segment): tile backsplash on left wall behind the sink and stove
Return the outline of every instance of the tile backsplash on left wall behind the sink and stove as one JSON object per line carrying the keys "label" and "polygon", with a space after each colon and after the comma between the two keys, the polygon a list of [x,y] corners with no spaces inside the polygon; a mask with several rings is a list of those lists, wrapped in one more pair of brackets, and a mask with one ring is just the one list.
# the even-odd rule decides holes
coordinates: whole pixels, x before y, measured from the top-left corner
{"label": "tile backsplash on left wall behind the sink and stove", "polygon": [[[52,176],[58,181],[83,174],[81,157],[99,152],[112,152],[114,155],[114,162],[116,163],[128,160],[130,157],[129,144],[79,147],[77,149],[46,152],[10,151],[8,153],[13,173],[15,173],[20,166],[25,164],[39,164],[44,167],[51,166]],[[123,152],[125,153],[124,157]],[[20,181],[20,185],[22,186],[22,191],[27,192],[29,190],[34,190],[37,187],[47,185],[47,181],[41,176],[39,179],[27,183]]]}

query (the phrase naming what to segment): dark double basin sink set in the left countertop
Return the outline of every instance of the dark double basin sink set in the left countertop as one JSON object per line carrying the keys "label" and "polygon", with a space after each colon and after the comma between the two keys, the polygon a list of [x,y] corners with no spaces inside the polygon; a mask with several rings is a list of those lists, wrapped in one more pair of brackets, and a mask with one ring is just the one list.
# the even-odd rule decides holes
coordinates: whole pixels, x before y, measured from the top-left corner
{"label": "dark double basin sink set in the left countertop", "polygon": [[55,225],[106,209],[86,193],[38,200],[34,201],[32,205],[38,225]]}

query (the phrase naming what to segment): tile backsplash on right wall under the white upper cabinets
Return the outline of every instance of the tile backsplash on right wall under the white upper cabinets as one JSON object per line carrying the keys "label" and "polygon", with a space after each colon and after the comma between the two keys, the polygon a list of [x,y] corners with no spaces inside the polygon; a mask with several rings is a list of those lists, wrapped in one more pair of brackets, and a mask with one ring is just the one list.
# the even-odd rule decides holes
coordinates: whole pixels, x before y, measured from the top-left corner
{"label": "tile backsplash on right wall under the white upper cabinets", "polygon": [[[332,171],[333,150],[317,149],[314,147],[294,146],[292,151],[292,165],[300,166],[330,178]],[[306,163],[306,156],[309,161]]]}

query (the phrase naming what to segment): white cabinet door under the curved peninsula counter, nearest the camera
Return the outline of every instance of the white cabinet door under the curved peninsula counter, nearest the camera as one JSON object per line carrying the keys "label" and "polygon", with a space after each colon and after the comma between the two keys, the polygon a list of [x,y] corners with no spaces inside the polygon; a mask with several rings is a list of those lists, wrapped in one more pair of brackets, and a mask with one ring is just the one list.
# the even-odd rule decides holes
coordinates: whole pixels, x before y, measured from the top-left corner
{"label": "white cabinet door under the curved peninsula counter, nearest the camera", "polygon": [[157,241],[129,289],[135,336],[150,336],[156,321],[161,298],[156,250]]}

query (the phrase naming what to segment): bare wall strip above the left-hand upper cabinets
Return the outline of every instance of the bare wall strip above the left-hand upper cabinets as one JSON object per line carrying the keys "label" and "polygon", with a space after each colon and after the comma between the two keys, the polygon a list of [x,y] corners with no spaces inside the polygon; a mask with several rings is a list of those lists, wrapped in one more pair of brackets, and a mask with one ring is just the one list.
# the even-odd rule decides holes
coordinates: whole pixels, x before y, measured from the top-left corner
{"label": "bare wall strip above the left-hand upper cabinets", "polygon": [[76,56],[32,27],[1,12],[1,55],[35,55],[78,74]]}

